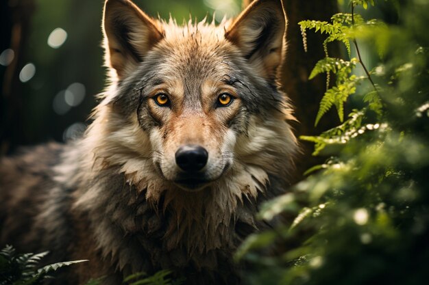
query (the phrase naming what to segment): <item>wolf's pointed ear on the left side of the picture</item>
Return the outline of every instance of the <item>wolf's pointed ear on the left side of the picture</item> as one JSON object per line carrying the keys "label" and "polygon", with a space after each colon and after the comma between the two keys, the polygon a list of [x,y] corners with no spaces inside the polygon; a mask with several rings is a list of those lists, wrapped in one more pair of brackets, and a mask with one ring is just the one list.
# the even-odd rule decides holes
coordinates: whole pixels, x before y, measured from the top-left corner
{"label": "wolf's pointed ear on the left side of the picture", "polygon": [[128,0],[106,0],[103,13],[106,64],[125,77],[164,33],[156,21]]}

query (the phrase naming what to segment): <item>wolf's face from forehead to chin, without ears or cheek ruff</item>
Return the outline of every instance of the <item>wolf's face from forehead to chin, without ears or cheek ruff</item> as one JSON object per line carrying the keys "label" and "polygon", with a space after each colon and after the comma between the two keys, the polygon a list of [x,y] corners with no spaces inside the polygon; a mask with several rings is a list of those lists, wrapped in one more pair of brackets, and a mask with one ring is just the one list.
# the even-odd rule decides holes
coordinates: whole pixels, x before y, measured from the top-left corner
{"label": "wolf's face from forehead to chin, without ears or cheek ruff", "polygon": [[159,174],[182,189],[197,190],[228,171],[233,130],[243,129],[248,114],[227,54],[216,46],[201,49],[188,38],[163,44],[167,53],[151,54],[160,68],[141,87],[138,121],[149,134]]}

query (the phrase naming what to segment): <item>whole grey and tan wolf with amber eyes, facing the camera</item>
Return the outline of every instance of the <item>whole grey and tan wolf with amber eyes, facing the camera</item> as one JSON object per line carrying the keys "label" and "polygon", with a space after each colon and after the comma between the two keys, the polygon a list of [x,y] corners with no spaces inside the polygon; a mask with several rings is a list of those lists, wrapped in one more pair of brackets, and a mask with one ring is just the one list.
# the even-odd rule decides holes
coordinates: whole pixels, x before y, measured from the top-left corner
{"label": "whole grey and tan wolf with amber eyes, facing the camera", "polygon": [[269,226],[258,205],[285,191],[299,151],[282,1],[177,25],[107,0],[102,29],[108,87],[84,135],[1,160],[1,244],[89,260],[56,284],[161,269],[239,284],[234,251]]}

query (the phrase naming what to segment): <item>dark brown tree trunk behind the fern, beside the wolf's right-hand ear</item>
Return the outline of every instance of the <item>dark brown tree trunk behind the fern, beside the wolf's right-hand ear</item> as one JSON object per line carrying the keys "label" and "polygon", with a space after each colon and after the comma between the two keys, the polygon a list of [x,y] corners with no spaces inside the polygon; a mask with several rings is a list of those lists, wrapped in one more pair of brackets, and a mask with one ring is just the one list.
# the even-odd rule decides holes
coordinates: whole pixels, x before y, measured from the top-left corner
{"label": "dark brown tree trunk behind the fern, beside the wolf's right-hand ear", "polygon": [[[293,126],[296,135],[318,135],[339,122],[331,110],[323,116],[317,128],[314,126],[320,100],[326,91],[326,77],[318,76],[308,81],[308,76],[317,61],[325,57],[322,42],[326,36],[308,31],[306,53],[298,23],[302,20],[330,21],[330,17],[338,12],[337,0],[284,0],[284,6],[288,18],[286,31],[288,45],[286,62],[282,66],[282,85],[295,106],[295,117],[298,122]],[[338,56],[339,46],[330,45],[329,52],[330,56]],[[303,154],[297,159],[296,173],[291,182],[302,180],[306,169],[323,163],[323,159],[311,156],[314,144],[304,141],[301,141],[301,144]]]}

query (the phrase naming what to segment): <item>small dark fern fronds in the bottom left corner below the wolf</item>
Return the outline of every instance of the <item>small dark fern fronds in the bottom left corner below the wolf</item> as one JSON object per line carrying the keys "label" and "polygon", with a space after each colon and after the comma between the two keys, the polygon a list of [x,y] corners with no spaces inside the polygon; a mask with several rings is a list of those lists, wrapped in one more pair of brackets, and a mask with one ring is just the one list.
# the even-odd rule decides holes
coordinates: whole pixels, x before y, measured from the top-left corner
{"label": "small dark fern fronds in the bottom left corner below the wolf", "polygon": [[14,247],[6,245],[0,252],[0,285],[38,285],[51,278],[50,273],[71,264],[87,260],[57,262],[37,269],[38,263],[49,252],[16,254]]}

